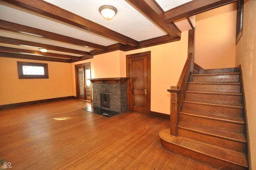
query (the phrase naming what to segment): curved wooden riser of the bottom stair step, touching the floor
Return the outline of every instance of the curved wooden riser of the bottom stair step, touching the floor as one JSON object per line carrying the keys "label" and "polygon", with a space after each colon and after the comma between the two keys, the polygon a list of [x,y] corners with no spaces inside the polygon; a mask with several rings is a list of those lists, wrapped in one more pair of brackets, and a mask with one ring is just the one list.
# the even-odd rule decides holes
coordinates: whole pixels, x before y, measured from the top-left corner
{"label": "curved wooden riser of the bottom stair step, touching the floor", "polygon": [[247,168],[245,168],[245,167],[242,167],[242,166],[239,166],[236,164],[232,164],[230,162],[226,162],[226,161],[223,161],[223,160],[220,160],[218,158],[214,158],[214,157],[211,157],[208,155],[204,155],[202,153],[195,152],[193,150],[189,150],[187,148],[183,148],[183,147],[175,145],[175,144],[171,144],[162,139],[161,139],[161,144],[162,144],[163,148],[169,150],[170,152],[185,156],[187,158],[202,162],[204,164],[208,164],[215,168],[219,168],[222,170],[247,170]]}

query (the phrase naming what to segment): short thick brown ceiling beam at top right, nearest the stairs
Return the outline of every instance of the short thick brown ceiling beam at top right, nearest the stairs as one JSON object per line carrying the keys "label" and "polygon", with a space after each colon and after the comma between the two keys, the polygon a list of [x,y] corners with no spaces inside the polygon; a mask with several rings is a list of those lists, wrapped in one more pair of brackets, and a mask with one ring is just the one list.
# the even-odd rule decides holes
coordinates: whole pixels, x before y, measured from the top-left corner
{"label": "short thick brown ceiling beam at top right, nearest the stairs", "polygon": [[164,22],[171,23],[202,12],[218,8],[238,0],[192,0],[186,4],[164,12]]}

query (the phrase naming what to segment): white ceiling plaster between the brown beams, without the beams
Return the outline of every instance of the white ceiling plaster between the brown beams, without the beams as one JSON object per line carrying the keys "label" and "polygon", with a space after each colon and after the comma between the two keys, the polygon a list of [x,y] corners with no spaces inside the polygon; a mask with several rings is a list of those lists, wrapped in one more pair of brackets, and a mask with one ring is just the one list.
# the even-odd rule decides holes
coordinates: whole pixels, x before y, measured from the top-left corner
{"label": "white ceiling plaster between the brown beams, without the beams", "polygon": [[[65,10],[68,10],[74,14],[82,16],[88,20],[96,22],[106,28],[114,30],[120,34],[128,36],[138,42],[143,40],[148,40],[151,38],[156,38],[159,36],[164,36],[166,33],[162,31],[158,26],[148,20],[147,17],[142,15],[138,10],[136,10],[132,5],[130,5],[125,0],[45,0],[51,4],[59,6]],[[164,11],[170,10],[189,2],[191,0],[156,0],[156,2],[161,6]],[[116,16],[112,20],[106,20],[98,11],[99,7],[102,5],[112,5],[115,6],[118,10]],[[88,32],[81,28],[77,28],[75,26],[71,26],[65,24],[63,22],[54,20],[52,18],[48,18],[42,16],[40,14],[36,14],[34,12],[30,12],[28,10],[24,10],[22,8],[18,8],[5,2],[0,2],[0,20],[6,20],[9,22],[14,22],[16,24],[21,24],[24,26],[30,26],[34,28],[38,28],[41,30],[46,30],[49,32],[54,32],[57,34],[69,36],[72,38],[93,42],[95,44],[100,44],[103,46],[109,46],[112,44],[116,44],[118,42],[114,40],[110,40],[106,37],[102,37],[92,32]],[[180,20],[176,22],[176,25],[181,31],[191,29],[188,21],[186,19]],[[47,40],[45,38],[39,38],[36,36],[30,36],[26,34],[14,33],[5,30],[0,30],[0,36],[16,38],[20,40],[27,40],[32,42],[39,42],[43,44],[50,44],[54,46],[61,46],[65,48],[72,48],[77,50],[83,50],[90,52],[91,48],[86,48],[82,46],[76,46],[72,44],[67,44],[63,42],[57,42],[53,40]],[[14,45],[9,44],[0,44],[0,46],[14,47]],[[28,48],[22,46],[15,46],[15,48],[24,48],[29,50],[38,50],[36,48]],[[57,52],[55,52],[57,53]],[[63,54],[63,52],[59,52]],[[64,53],[65,54],[65,53]]]}

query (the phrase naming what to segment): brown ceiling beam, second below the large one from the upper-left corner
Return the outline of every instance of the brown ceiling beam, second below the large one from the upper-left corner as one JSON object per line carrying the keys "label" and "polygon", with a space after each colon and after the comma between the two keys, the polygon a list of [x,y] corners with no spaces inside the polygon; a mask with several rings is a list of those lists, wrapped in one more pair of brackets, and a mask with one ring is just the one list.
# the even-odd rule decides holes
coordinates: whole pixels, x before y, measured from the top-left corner
{"label": "brown ceiling beam, second below the large one from the upper-left corner", "polygon": [[74,49],[70,49],[70,48],[52,46],[52,45],[48,45],[48,44],[41,44],[41,43],[37,43],[37,42],[18,40],[18,39],[14,39],[14,38],[6,38],[6,37],[1,37],[1,36],[0,36],[0,43],[19,45],[19,46],[25,45],[25,46],[31,46],[31,47],[45,48],[47,50],[68,52],[68,53],[72,53],[72,54],[80,54],[83,56],[84,55],[92,56],[92,55],[90,55],[90,52],[86,52],[86,51],[74,50]]}

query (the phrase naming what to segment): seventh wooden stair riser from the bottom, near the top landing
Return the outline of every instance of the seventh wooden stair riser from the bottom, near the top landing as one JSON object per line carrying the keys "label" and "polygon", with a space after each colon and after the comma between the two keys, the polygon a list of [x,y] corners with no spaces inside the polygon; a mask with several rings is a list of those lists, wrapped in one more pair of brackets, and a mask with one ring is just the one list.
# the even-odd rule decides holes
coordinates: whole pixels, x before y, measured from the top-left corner
{"label": "seventh wooden stair riser from the bottom, near the top landing", "polygon": [[239,82],[239,75],[193,76],[193,82]]}

